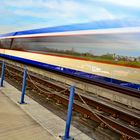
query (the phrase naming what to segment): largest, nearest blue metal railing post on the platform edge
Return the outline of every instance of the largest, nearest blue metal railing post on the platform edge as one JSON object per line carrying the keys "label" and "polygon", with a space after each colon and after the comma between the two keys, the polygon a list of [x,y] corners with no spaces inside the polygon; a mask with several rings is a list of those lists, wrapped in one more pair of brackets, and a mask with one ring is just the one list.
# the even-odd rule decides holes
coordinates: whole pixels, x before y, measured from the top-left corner
{"label": "largest, nearest blue metal railing post on the platform edge", "polygon": [[65,128],[65,135],[62,138],[63,140],[74,140],[69,136],[70,132],[70,123],[72,118],[72,108],[73,108],[73,101],[74,101],[74,86],[70,87],[70,97],[69,97],[69,104],[68,104],[68,112],[67,112],[67,120],[66,120],[66,128]]}

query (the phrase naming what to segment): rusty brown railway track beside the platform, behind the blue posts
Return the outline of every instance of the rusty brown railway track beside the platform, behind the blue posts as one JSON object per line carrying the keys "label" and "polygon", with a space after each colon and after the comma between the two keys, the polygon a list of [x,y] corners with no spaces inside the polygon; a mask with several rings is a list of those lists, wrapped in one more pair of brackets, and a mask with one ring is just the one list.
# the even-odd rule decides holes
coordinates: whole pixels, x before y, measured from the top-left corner
{"label": "rusty brown railway track beside the platform, behind the blue posts", "polygon": [[[23,70],[7,65],[6,76],[22,82]],[[53,99],[67,106],[69,85],[44,78],[28,71],[27,88],[40,92],[45,98]],[[74,110],[89,120],[96,121],[99,127],[111,129],[121,135],[120,139],[140,139],[140,112],[98,97],[76,88]]]}

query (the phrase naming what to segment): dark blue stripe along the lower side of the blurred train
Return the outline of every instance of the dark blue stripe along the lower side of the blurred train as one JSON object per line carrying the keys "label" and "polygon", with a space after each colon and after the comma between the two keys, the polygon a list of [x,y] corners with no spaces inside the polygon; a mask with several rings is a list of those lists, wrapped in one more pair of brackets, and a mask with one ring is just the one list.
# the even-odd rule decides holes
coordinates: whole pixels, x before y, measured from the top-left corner
{"label": "dark blue stripe along the lower side of the blurred train", "polygon": [[91,81],[96,80],[96,81],[99,81],[102,83],[108,83],[108,84],[111,83],[111,84],[116,84],[120,87],[126,87],[126,88],[135,89],[135,90],[140,90],[140,85],[135,84],[135,83],[130,83],[130,82],[121,81],[121,80],[117,80],[117,79],[113,79],[113,78],[103,77],[103,76],[99,76],[99,75],[95,75],[95,74],[85,73],[85,72],[81,72],[81,71],[77,71],[77,70],[73,70],[73,69],[69,69],[69,68],[64,68],[64,67],[60,67],[60,66],[55,66],[55,65],[37,62],[37,61],[25,59],[25,58],[10,56],[10,55],[6,55],[6,54],[0,54],[0,57],[22,62],[24,64],[33,65],[33,66],[43,68],[46,70],[53,70],[53,71],[73,75],[73,76],[88,79]]}

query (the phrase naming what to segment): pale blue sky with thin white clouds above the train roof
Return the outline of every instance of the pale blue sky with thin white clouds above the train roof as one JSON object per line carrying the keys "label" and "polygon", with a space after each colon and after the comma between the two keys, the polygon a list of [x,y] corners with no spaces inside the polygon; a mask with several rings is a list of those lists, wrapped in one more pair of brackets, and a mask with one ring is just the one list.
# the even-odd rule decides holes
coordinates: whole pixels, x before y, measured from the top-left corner
{"label": "pale blue sky with thin white clouds above the train roof", "polygon": [[140,0],[0,0],[0,34],[100,20],[140,21]]}

